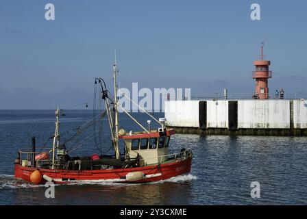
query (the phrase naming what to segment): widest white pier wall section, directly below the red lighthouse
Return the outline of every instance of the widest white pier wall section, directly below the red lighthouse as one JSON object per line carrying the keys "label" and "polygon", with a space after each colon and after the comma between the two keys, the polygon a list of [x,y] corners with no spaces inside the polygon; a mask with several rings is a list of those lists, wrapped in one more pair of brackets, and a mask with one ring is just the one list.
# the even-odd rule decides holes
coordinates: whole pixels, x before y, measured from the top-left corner
{"label": "widest white pier wall section, directly below the red lighthouse", "polygon": [[238,129],[289,129],[290,101],[238,101]]}

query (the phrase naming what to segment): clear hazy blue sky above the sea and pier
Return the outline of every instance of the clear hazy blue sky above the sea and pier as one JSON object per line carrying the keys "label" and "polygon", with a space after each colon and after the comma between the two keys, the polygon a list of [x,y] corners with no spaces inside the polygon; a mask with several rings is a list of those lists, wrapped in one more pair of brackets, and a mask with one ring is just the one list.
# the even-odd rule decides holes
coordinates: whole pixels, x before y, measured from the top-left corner
{"label": "clear hazy blue sky above the sea and pier", "polygon": [[[55,21],[45,21],[46,3]],[[251,21],[251,3],[261,21]],[[306,10],[303,0],[1,0],[0,109],[83,103],[95,77],[111,79],[114,49],[121,87],[252,94],[262,38],[271,92],[307,92]]]}

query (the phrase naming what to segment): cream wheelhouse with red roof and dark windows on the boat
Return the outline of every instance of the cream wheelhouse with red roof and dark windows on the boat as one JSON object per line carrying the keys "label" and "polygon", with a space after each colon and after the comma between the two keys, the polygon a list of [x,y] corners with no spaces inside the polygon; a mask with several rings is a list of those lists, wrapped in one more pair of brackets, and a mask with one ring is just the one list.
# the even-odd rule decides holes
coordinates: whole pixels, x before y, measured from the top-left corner
{"label": "cream wheelhouse with red roof and dark windows on the boat", "polygon": [[171,135],[175,134],[173,129],[152,130],[149,133],[130,132],[119,138],[125,141],[125,158],[139,159],[140,166],[158,164],[167,161],[168,146]]}

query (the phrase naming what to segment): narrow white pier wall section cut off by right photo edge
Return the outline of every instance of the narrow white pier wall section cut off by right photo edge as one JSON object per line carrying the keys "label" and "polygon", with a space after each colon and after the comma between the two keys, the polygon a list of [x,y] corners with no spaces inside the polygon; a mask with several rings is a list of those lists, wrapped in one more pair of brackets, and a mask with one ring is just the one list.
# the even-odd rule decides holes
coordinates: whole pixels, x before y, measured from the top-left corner
{"label": "narrow white pier wall section cut off by right photo edge", "polygon": [[293,101],[293,127],[307,129],[307,101]]}

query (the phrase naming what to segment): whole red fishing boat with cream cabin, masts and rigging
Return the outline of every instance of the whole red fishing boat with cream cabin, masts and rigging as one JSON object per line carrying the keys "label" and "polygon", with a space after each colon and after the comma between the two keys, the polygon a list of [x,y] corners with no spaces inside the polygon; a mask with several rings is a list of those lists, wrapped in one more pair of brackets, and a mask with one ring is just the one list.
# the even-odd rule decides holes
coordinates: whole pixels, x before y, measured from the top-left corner
{"label": "whole red fishing boat with cream cabin, masts and rigging", "polygon": [[[114,64],[114,94],[119,92],[116,83],[117,75],[118,70],[116,64]],[[93,116],[93,123],[95,123],[96,118],[101,119],[108,116],[111,136],[110,146],[114,154],[70,156],[71,150],[66,149],[65,144],[61,142],[62,138],[60,138],[62,137],[59,131],[62,114],[58,107],[55,112],[56,129],[51,136],[52,147],[49,149],[44,146],[40,149],[36,148],[35,138],[32,138],[32,149],[18,151],[18,157],[14,161],[14,177],[16,179],[35,184],[47,183],[47,181],[53,183],[79,181],[149,183],[184,175],[191,171],[193,158],[191,149],[182,148],[177,153],[168,152],[171,146],[171,136],[175,134],[175,131],[166,127],[164,118],[156,119],[138,106],[140,110],[158,123],[157,129],[151,129],[151,120],[147,120],[149,126],[145,128],[124,107],[119,105],[117,95],[110,98],[111,94],[102,78],[95,79],[95,86],[97,85],[100,85],[101,95],[99,99],[105,110]],[[125,129],[120,129],[119,107],[143,131],[129,131],[127,133]],[[82,132],[82,127],[78,127],[76,131],[77,133]],[[124,144],[120,144],[120,142],[124,142]],[[123,145],[124,153],[122,154],[120,145]]]}

